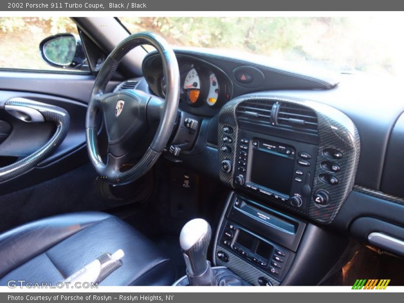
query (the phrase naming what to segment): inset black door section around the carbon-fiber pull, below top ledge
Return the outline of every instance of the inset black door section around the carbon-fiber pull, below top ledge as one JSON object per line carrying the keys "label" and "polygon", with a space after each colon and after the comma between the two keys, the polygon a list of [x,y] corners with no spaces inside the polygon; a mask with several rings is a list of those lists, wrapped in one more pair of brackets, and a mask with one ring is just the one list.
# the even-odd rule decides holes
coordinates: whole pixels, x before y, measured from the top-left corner
{"label": "inset black door section around the carbon-fiber pull, below top ledge", "polygon": [[[0,183],[0,194],[37,184],[53,178],[87,162],[85,153],[85,113],[86,105],[67,98],[48,94],[19,91],[0,91],[0,107],[15,97],[24,97],[36,102],[58,106],[70,115],[68,133],[62,143],[33,169]],[[0,120],[11,125],[8,137],[0,143],[0,162],[10,157],[21,159],[41,148],[55,133],[53,122],[26,123],[0,110]]]}

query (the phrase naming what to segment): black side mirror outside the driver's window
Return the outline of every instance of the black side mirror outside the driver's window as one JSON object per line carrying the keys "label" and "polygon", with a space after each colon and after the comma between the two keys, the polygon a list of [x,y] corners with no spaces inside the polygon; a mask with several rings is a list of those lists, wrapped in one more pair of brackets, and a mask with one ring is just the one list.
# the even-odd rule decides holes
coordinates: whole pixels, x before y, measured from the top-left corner
{"label": "black side mirror outside the driver's window", "polygon": [[57,34],[39,43],[42,59],[49,65],[65,69],[88,70],[87,58],[80,38],[71,34]]}

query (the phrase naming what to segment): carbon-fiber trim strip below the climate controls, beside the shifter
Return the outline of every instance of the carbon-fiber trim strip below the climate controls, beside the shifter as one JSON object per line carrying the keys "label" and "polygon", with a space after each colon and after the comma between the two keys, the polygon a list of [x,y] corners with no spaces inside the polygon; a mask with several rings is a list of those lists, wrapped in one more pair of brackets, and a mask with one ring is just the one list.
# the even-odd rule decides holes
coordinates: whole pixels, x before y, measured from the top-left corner
{"label": "carbon-fiber trim strip below the climate controls, beside the shifter", "polygon": [[278,286],[279,282],[276,281],[274,278],[268,276],[266,273],[260,271],[259,269],[255,268],[254,266],[248,264],[241,258],[237,257],[234,255],[231,251],[221,247],[217,246],[217,250],[222,250],[226,252],[226,254],[229,256],[229,261],[228,262],[223,262],[219,258],[216,257],[216,264],[218,266],[226,266],[227,268],[231,269],[235,274],[239,275],[241,278],[244,280],[248,281],[251,284],[254,285],[260,285],[258,284],[258,278],[259,277],[264,277],[271,281],[272,285]]}

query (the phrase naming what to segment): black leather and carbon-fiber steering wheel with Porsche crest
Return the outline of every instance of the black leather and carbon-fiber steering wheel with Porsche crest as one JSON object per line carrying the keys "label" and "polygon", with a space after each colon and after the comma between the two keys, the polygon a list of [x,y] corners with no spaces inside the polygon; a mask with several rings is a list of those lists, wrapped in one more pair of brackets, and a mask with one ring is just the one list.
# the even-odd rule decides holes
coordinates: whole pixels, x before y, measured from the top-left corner
{"label": "black leather and carbon-fiber steering wheel with Porsche crest", "polygon": [[[167,83],[165,100],[140,90],[123,89],[104,93],[122,58],[138,45],[154,46],[162,57]],[[139,179],[153,167],[162,154],[174,128],[179,102],[178,62],[170,45],[159,35],[140,32],[119,43],[99,70],[86,114],[86,142],[92,166],[97,174],[114,184]],[[108,136],[108,155],[103,162],[98,149],[97,133],[104,118]],[[160,120],[150,145],[129,170],[122,170],[131,154],[144,139],[149,124]]]}

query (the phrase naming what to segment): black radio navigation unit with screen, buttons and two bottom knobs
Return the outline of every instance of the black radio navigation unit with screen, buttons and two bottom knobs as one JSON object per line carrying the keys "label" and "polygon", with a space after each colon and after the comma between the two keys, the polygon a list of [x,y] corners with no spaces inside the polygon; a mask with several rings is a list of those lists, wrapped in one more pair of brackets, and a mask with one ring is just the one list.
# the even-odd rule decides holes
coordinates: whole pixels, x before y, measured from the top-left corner
{"label": "black radio navigation unit with screen, buttons and two bottom knobs", "polygon": [[234,184],[261,197],[307,211],[317,145],[240,130]]}

